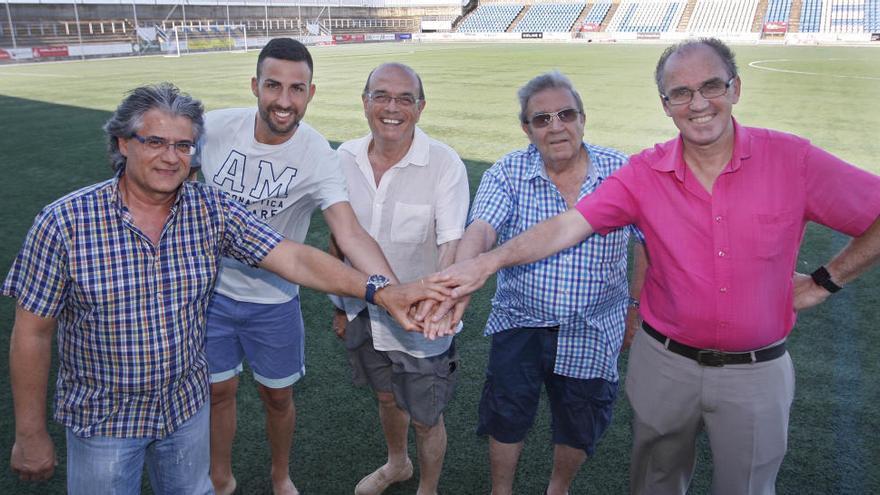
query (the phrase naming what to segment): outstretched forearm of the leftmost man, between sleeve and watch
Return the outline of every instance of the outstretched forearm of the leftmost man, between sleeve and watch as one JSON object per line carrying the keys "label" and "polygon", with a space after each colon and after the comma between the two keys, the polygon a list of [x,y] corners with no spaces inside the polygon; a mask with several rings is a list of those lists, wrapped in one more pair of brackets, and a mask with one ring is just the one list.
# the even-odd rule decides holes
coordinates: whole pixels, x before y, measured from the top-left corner
{"label": "outstretched forearm of the leftmost man, between sleeve and watch", "polygon": [[363,298],[367,276],[329,254],[284,240],[260,263],[280,277],[321,292]]}

